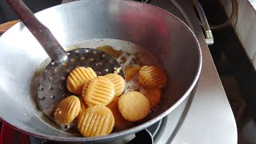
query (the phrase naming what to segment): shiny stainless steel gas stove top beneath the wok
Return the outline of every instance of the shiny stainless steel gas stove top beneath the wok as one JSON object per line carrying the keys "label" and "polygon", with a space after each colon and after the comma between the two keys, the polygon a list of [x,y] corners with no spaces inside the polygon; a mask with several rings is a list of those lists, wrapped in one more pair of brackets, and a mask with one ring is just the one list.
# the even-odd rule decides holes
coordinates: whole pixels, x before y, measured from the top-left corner
{"label": "shiny stainless steel gas stove top beneath the wok", "polygon": [[[72,0],[64,0],[62,3],[70,1]],[[202,74],[197,89],[193,91],[194,97],[186,98],[165,118],[147,129],[154,143],[237,143],[234,114],[206,45],[206,39],[194,11],[193,1],[151,0],[145,2],[169,11],[190,26],[198,38],[203,58]],[[30,143],[52,143],[33,136],[26,135],[26,137],[29,138]],[[134,137],[135,135],[130,135],[110,143],[126,143]],[[139,139],[143,141],[143,138]]]}

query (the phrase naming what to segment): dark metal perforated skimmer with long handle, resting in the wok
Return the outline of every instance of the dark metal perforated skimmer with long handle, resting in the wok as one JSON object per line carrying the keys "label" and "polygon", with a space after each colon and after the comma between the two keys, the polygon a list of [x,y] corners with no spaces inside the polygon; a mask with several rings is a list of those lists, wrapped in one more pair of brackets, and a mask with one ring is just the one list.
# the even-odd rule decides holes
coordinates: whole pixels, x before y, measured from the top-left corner
{"label": "dark metal perforated skimmer with long handle, resting in the wok", "polygon": [[[66,52],[50,30],[44,26],[22,0],[6,0],[24,25],[30,30],[49,55],[51,62],[42,70],[38,80],[38,106],[51,119],[58,103],[71,95],[66,78],[78,66],[91,67],[97,75],[113,73],[120,64],[102,50],[78,48]],[[125,78],[124,73],[119,73]]]}

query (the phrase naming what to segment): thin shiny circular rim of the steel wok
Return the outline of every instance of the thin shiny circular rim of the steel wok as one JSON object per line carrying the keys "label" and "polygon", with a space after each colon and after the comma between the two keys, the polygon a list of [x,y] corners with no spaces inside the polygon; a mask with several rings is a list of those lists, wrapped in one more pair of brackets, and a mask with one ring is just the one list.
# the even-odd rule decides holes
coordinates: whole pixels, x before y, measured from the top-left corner
{"label": "thin shiny circular rim of the steel wok", "polygon": [[[172,110],[174,110],[176,107],[178,107],[190,95],[191,91],[194,90],[194,88],[196,88],[196,84],[198,83],[198,79],[199,79],[199,76],[200,76],[201,71],[202,71],[202,50],[201,50],[201,46],[198,42],[198,38],[196,38],[196,36],[195,36],[194,32],[191,30],[191,28],[189,26],[187,26],[185,22],[182,22],[182,20],[180,18],[176,17],[174,14],[171,14],[170,12],[168,12],[166,10],[163,10],[162,8],[160,8],[158,6],[153,6],[153,5],[150,5],[150,4],[147,4],[147,3],[136,2],[136,1],[132,1],[132,0],[126,0],[126,1],[127,2],[139,3],[139,4],[142,4],[142,5],[146,5],[146,6],[151,6],[154,9],[162,10],[163,12],[165,12],[167,14],[170,14],[173,18],[176,18],[179,22],[181,22],[181,24],[185,26],[186,30],[188,30],[188,32],[190,32],[192,34],[192,37],[194,38],[195,45],[197,46],[197,50],[198,50],[198,62],[199,62],[198,63],[198,69],[197,69],[197,72],[196,72],[196,75],[194,77],[193,82],[190,84],[189,88],[182,95],[182,97],[180,97],[177,102],[174,102],[174,105],[170,106],[170,108],[167,109],[165,112],[163,112],[162,114],[159,114],[157,117],[151,119],[148,122],[144,122],[141,125],[134,126],[134,127],[130,128],[128,130],[122,130],[122,131],[119,131],[117,133],[108,134],[106,136],[101,136],[101,137],[89,137],[89,138],[84,138],[84,137],[70,138],[69,137],[69,138],[67,138],[67,137],[59,137],[59,136],[53,136],[53,135],[48,135],[48,134],[35,134],[33,132],[24,130],[23,128],[18,128],[18,126],[13,126],[9,122],[6,122],[2,118],[2,116],[0,116],[0,120],[2,122],[6,123],[8,126],[13,127],[15,130],[21,131],[23,133],[29,134],[29,135],[37,137],[37,138],[44,138],[44,139],[47,139],[47,140],[58,141],[58,142],[91,142],[91,141],[107,142],[107,141],[118,139],[118,138],[124,138],[124,137],[126,137],[130,134],[135,134],[140,130],[144,130],[149,126],[152,126],[155,122],[158,122],[160,119],[166,117],[167,114],[170,114],[170,112]],[[83,2],[83,1],[75,1],[75,2]],[[52,6],[50,8],[45,9],[45,10],[53,9],[53,8],[59,7],[59,6],[72,5],[75,2],[68,2],[68,3],[58,5],[58,6]],[[45,10],[41,10],[41,11],[35,13],[35,16],[37,16],[37,14],[40,14],[40,13],[44,12]],[[19,25],[20,23],[21,22],[18,22],[14,26]],[[10,28],[10,30],[12,30],[12,28]],[[9,31],[9,30],[7,30],[7,31]],[[2,35],[4,35],[4,34],[2,34]]]}

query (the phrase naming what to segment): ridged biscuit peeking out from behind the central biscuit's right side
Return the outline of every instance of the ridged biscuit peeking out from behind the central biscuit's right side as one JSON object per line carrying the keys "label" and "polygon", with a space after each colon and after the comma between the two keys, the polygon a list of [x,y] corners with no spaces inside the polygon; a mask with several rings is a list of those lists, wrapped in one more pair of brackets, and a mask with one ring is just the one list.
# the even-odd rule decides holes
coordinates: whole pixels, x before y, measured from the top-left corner
{"label": "ridged biscuit peeking out from behind the central biscuit's right side", "polygon": [[118,97],[123,93],[126,87],[126,81],[118,74],[106,74],[104,77],[109,78],[114,84],[114,97]]}

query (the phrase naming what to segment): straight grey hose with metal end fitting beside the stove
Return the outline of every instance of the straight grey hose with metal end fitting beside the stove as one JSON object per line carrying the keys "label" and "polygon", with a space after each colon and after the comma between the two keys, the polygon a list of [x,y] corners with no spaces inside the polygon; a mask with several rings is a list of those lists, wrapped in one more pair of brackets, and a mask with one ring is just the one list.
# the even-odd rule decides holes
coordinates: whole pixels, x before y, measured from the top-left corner
{"label": "straight grey hose with metal end fitting beside the stove", "polygon": [[203,30],[206,34],[206,43],[207,43],[207,45],[213,45],[214,44],[214,35],[212,34],[212,32],[210,30],[210,26],[209,26],[208,20],[206,18],[205,11],[202,9],[202,6],[201,6],[200,2],[198,2],[198,0],[193,0],[193,2],[194,2],[194,6],[195,6],[196,10],[198,11],[200,20],[202,22]]}

